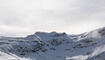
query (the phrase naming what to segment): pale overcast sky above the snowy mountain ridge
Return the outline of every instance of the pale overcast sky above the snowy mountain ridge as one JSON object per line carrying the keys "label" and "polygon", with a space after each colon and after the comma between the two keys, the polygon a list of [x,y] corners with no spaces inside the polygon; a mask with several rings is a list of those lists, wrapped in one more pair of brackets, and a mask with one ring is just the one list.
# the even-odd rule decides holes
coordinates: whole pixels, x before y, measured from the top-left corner
{"label": "pale overcast sky above the snowy mountain ridge", "polygon": [[80,34],[105,26],[105,0],[0,0],[0,36]]}

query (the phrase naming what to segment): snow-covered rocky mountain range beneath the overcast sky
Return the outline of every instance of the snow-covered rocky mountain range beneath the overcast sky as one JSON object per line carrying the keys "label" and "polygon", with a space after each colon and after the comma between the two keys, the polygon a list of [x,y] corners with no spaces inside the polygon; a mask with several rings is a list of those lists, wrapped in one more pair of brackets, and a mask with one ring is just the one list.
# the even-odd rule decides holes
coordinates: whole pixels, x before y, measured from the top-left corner
{"label": "snow-covered rocky mountain range beneath the overcast sky", "polygon": [[0,37],[0,60],[105,60],[105,28],[79,35]]}

